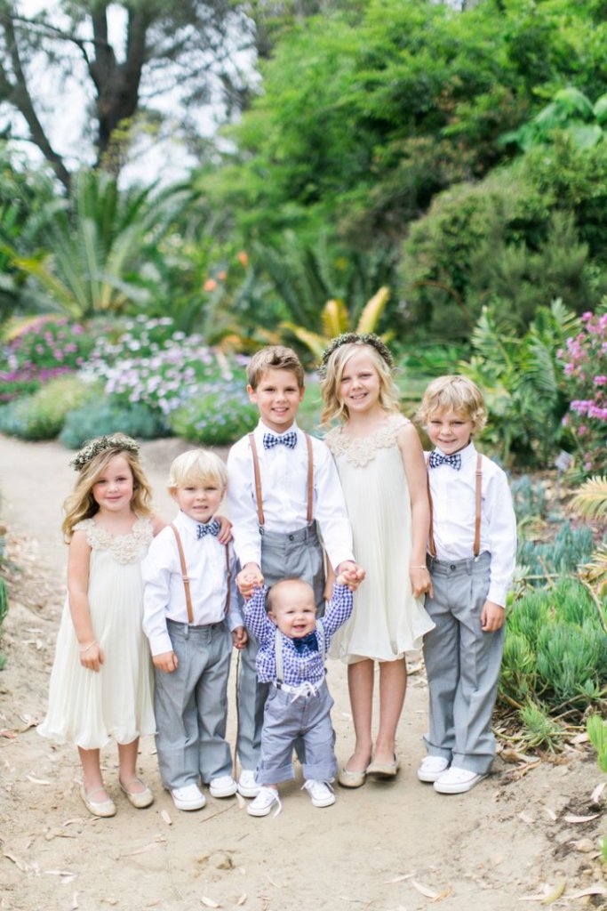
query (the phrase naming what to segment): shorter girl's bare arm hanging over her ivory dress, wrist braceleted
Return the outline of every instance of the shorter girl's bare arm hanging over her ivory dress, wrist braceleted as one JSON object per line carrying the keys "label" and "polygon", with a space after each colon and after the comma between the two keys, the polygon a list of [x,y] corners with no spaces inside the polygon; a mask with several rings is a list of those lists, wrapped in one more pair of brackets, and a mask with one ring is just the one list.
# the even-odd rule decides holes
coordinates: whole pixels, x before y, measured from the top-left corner
{"label": "shorter girl's bare arm hanging over her ivory dress, wrist braceleted", "polygon": [[88,670],[100,670],[104,655],[95,639],[91,612],[88,607],[88,571],[91,548],[86,531],[75,531],[69,542],[67,558],[67,591],[69,609],[76,630],[80,663]]}

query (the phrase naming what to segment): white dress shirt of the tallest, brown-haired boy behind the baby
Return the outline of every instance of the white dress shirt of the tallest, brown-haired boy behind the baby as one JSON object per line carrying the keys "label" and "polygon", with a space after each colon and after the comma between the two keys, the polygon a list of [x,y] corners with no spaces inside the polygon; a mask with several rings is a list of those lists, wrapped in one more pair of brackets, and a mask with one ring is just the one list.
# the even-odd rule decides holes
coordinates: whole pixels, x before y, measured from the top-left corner
{"label": "white dress shirt of the tallest, brown-haired boy behind the baby", "polygon": [[[264,527],[268,531],[289,534],[308,524],[308,446],[306,435],[293,424],[287,428],[298,435],[295,448],[276,445],[264,449],[264,433],[273,433],[259,421],[255,442],[259,458]],[[279,434],[277,434],[279,436]],[[339,484],[339,475],[327,445],[318,437],[312,441],[314,491],[312,515],[319,522],[323,545],[331,566],[353,559],[352,530]],[[228,516],[234,523],[234,547],[244,567],[261,561],[261,537],[253,455],[248,436],[243,436],[228,455]]]}

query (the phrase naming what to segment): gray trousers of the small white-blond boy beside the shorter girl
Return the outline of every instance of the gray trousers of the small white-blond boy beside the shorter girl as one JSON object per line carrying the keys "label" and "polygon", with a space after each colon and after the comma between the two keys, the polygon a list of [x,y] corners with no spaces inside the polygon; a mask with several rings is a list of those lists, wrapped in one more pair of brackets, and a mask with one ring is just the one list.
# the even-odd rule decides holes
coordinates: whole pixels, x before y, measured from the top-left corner
{"label": "gray trousers of the small white-blond boy beside the shorter girl", "polygon": [[156,669],[156,748],[162,783],[181,788],[232,772],[226,742],[232,638],[226,623],[167,620],[178,667]]}

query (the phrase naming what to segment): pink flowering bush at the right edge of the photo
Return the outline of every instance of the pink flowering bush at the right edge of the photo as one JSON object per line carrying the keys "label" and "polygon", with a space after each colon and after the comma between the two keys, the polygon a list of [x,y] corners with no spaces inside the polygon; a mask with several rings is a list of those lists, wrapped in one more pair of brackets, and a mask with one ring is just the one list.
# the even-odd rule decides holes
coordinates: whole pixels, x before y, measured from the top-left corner
{"label": "pink flowering bush at the right edge of the photo", "polygon": [[572,396],[563,418],[582,456],[582,474],[604,470],[607,445],[607,312],[582,315],[582,329],[558,353]]}

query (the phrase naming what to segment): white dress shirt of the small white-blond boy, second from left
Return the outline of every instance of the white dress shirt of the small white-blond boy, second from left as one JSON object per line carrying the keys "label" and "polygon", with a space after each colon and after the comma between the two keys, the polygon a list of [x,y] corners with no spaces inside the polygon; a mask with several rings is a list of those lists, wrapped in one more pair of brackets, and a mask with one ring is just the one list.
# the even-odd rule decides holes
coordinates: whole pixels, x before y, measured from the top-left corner
{"label": "white dress shirt of the small white-blond boy, second from left", "polygon": [[[231,572],[230,606],[228,598],[226,548],[214,535],[197,539],[198,523],[179,512],[174,520],[186,558],[187,577],[192,599],[194,626],[219,623],[224,618],[230,630],[244,626],[238,608],[236,557],[229,548]],[[187,623],[187,602],[181,575],[177,540],[169,526],[162,529],[150,544],[142,565],[144,580],[143,629],[153,655],[172,651],[167,619]]]}

